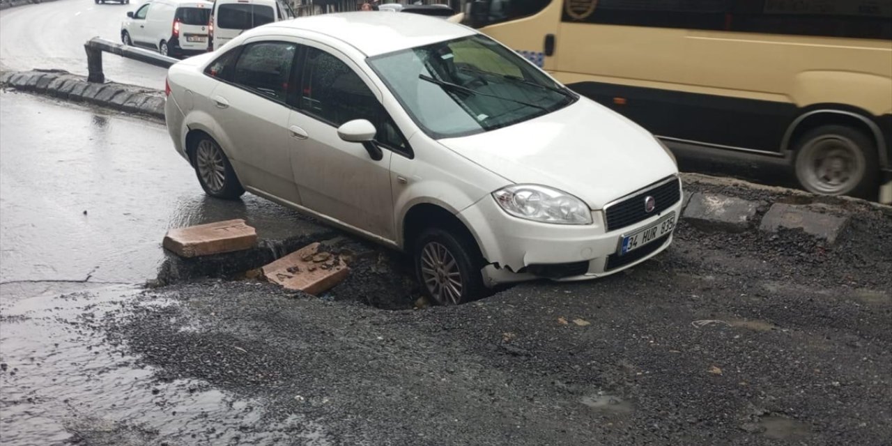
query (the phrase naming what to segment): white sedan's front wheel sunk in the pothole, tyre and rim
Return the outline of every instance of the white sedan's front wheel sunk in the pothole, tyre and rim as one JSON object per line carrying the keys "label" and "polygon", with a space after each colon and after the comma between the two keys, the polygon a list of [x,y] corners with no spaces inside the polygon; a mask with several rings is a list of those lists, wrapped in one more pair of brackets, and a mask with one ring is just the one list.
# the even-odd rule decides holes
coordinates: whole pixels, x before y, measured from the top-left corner
{"label": "white sedan's front wheel sunk in the pothole, tyre and rim", "polygon": [[427,228],[413,244],[412,258],[425,295],[440,305],[458,305],[483,297],[483,256],[463,231]]}

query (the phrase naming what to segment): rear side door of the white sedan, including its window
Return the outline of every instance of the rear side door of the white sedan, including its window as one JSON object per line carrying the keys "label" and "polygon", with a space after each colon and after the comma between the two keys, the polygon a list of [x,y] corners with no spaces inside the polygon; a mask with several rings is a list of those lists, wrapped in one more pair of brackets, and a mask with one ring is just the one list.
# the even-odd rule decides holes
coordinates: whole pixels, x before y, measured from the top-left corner
{"label": "rear side door of the white sedan, including its window", "polygon": [[[211,63],[208,74],[221,80],[208,108],[219,129],[218,143],[233,161],[243,185],[300,204],[294,185],[285,104],[300,45],[250,39]],[[231,58],[231,60],[227,59]]]}

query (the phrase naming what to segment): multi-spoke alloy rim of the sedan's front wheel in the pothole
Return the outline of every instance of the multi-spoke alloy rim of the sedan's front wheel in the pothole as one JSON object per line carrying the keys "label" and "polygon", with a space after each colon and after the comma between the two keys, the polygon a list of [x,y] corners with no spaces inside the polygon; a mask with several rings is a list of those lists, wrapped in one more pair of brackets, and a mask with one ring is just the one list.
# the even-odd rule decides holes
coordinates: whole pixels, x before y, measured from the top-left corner
{"label": "multi-spoke alloy rim of the sedan's front wheel in the pothole", "polygon": [[425,244],[421,252],[421,278],[441,305],[457,305],[461,301],[464,290],[461,271],[446,246],[437,242]]}

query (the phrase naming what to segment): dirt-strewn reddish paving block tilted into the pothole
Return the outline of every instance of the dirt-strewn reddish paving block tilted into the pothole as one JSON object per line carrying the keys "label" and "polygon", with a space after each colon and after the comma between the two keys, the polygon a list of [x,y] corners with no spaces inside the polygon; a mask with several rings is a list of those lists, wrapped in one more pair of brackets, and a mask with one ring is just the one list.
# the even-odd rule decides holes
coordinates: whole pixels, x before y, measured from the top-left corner
{"label": "dirt-strewn reddish paving block tilted into the pothole", "polygon": [[308,244],[261,268],[268,281],[286,289],[316,295],[341,283],[350,268],[340,256]]}

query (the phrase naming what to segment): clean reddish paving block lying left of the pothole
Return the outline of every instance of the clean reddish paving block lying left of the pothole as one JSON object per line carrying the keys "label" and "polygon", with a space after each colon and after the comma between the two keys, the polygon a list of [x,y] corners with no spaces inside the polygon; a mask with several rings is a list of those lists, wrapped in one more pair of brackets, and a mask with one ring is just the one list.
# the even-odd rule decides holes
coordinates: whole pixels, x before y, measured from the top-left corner
{"label": "clean reddish paving block lying left of the pothole", "polygon": [[257,230],[244,219],[217,221],[193,227],[170,229],[164,247],[180,257],[198,257],[250,249],[257,244]]}

